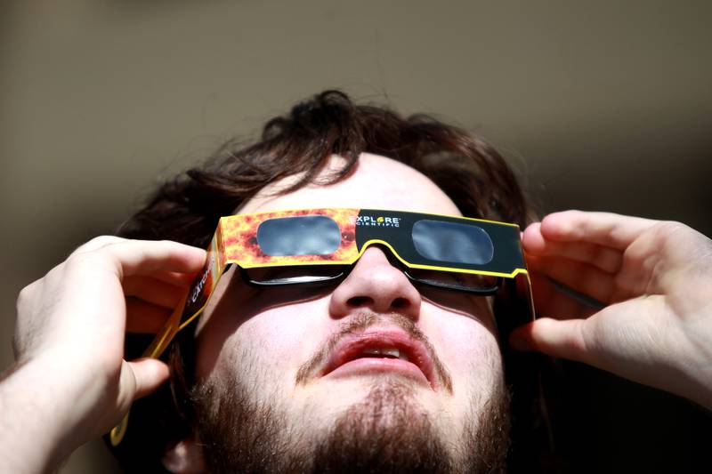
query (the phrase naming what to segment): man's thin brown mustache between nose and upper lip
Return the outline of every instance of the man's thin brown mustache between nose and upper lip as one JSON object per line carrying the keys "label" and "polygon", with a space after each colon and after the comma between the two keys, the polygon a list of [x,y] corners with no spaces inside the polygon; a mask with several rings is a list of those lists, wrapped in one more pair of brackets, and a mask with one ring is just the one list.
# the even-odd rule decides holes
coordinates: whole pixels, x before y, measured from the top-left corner
{"label": "man's thin brown mustache between nose and upper lip", "polygon": [[372,325],[379,323],[389,323],[401,328],[405,333],[407,333],[410,338],[415,341],[420,342],[425,346],[425,350],[428,352],[428,356],[433,361],[433,370],[436,376],[440,379],[442,386],[445,387],[450,393],[452,392],[452,377],[445,366],[442,365],[440,358],[438,358],[433,348],[433,344],[428,340],[427,336],[417,328],[416,324],[409,317],[403,316],[400,313],[360,313],[350,317],[347,322],[345,322],[340,330],[329,337],[327,343],[323,348],[317,349],[311,358],[309,358],[296,373],[295,384],[303,384],[309,380],[313,374],[324,366],[328,360],[329,354],[334,350],[336,344],[344,339],[344,337],[351,335],[352,333],[359,333],[367,329]]}

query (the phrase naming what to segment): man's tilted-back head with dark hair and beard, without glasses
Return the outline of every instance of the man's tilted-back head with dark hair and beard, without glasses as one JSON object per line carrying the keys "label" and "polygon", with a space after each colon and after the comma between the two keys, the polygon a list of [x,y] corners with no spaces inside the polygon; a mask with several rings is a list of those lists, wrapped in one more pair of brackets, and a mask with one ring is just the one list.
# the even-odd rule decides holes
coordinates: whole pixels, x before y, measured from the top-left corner
{"label": "man's tilted-back head with dark hair and beard, without glasses", "polygon": [[[511,171],[481,141],[336,92],[189,175],[161,189],[123,235],[204,246],[221,215],[312,207],[520,224],[526,213]],[[182,430],[164,439],[164,464],[499,470],[508,395],[491,303],[414,286],[380,246],[331,287],[255,290],[230,272],[174,349]]]}

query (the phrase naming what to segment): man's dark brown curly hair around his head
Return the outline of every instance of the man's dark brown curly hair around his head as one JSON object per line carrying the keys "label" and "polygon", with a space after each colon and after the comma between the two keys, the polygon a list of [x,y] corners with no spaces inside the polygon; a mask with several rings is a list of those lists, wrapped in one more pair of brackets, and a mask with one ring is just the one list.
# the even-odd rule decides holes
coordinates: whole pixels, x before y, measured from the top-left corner
{"label": "man's dark brown curly hair around his head", "polygon": [[[485,141],[430,116],[404,118],[389,108],[356,105],[344,92],[326,91],[297,104],[286,116],[271,119],[259,141],[247,145],[230,141],[205,165],[161,185],[117,235],[205,248],[220,217],[234,213],[260,189],[296,174],[300,179],[281,193],[300,189],[316,180],[332,155],[344,157],[344,166],[322,184],[339,181],[364,152],[390,157],[424,173],[465,216],[515,222],[522,228],[530,221],[530,209],[513,171]],[[506,337],[511,329],[501,324],[507,319],[502,313],[521,310],[508,303],[496,307],[504,333],[500,335]],[[178,340],[167,355],[171,383],[134,403],[125,439],[112,448],[126,471],[165,472],[160,458],[166,446],[192,430],[188,393],[195,348],[188,331]],[[143,336],[128,335],[126,358],[139,356],[147,345]],[[529,460],[540,453],[541,433],[546,431],[536,403],[536,362],[502,346],[506,379],[514,387],[510,467],[531,467]]]}

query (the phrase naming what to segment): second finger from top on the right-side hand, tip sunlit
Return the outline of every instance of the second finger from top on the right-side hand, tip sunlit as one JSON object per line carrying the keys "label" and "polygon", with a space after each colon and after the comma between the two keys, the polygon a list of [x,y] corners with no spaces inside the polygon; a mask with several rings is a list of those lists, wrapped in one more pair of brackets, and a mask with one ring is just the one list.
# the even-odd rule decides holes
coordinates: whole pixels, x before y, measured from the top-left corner
{"label": "second finger from top on the right-side hand, tip sunlit", "polygon": [[623,253],[617,249],[590,242],[561,242],[545,238],[539,222],[531,224],[522,236],[522,245],[528,255],[564,257],[590,263],[595,267],[616,273],[623,262]]}

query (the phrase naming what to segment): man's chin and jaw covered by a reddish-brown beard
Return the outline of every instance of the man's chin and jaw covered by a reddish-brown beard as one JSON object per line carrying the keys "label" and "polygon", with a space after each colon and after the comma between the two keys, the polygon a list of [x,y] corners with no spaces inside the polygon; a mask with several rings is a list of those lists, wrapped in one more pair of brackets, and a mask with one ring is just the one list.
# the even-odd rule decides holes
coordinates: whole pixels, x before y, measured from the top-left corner
{"label": "man's chin and jaw covered by a reddish-brown beard", "polygon": [[306,397],[292,398],[288,407],[279,403],[285,398],[259,397],[241,380],[230,390],[208,383],[194,399],[198,438],[215,474],[496,472],[504,466],[506,397],[465,416],[462,436],[453,440],[457,429],[440,421],[439,394],[408,378],[324,379],[304,387]]}

